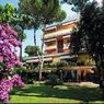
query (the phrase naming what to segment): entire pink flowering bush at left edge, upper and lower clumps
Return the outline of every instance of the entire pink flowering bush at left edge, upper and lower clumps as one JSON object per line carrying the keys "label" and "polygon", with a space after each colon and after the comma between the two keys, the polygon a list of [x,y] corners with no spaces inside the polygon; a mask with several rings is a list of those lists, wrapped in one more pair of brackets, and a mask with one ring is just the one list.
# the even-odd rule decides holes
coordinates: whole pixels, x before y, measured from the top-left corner
{"label": "entire pink flowering bush at left edge, upper and lower clumps", "polygon": [[14,66],[21,66],[15,47],[21,47],[18,33],[8,23],[0,24],[0,101],[3,103],[9,103],[9,93],[14,85],[24,85],[18,74],[11,80],[2,76],[7,71],[11,72]]}

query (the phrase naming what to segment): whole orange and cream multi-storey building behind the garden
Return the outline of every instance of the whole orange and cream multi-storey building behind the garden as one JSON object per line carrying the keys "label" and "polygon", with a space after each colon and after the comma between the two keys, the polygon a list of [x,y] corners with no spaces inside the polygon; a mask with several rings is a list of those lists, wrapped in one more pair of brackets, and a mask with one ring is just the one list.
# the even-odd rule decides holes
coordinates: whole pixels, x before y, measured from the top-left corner
{"label": "whole orange and cream multi-storey building behind the garden", "polygon": [[[69,61],[76,61],[76,57],[70,55],[70,35],[72,33],[73,27],[77,26],[78,20],[65,22],[61,24],[47,26],[45,28],[44,34],[44,62],[58,62],[59,60],[67,60]],[[86,54],[81,54],[79,56],[79,59],[84,60],[84,58],[89,58]],[[26,63],[28,65],[38,65],[39,59],[38,57],[27,57]],[[76,70],[76,78],[77,74],[85,76],[86,73],[94,73],[91,69],[93,66],[76,66],[70,67],[69,69],[66,68],[66,70]]]}

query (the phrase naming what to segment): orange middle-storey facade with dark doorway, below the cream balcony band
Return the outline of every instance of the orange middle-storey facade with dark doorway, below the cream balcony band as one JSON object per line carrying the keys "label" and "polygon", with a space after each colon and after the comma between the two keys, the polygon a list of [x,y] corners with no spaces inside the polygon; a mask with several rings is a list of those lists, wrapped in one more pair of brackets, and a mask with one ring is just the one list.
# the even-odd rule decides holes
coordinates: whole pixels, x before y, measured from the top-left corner
{"label": "orange middle-storey facade with dark doorway, below the cream balcony band", "polygon": [[46,54],[69,53],[70,37],[45,42]]}

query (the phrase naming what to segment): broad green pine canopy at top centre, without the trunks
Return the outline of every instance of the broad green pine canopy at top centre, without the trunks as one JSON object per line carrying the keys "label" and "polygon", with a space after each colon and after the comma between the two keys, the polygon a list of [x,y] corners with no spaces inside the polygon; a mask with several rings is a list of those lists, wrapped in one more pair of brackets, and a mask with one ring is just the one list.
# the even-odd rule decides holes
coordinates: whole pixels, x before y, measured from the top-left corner
{"label": "broad green pine canopy at top centre, without the trunks", "polygon": [[48,24],[55,21],[61,21],[60,16],[62,16],[62,20],[66,16],[66,13],[60,10],[58,0],[20,0],[19,5],[22,13],[31,15],[34,19],[35,28],[38,27],[39,23],[37,22]]}

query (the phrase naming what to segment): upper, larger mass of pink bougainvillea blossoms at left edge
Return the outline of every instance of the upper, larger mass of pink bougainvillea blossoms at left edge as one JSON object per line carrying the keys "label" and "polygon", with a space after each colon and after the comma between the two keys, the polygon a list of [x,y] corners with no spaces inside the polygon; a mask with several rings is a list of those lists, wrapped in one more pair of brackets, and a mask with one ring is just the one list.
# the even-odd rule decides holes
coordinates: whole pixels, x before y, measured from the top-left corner
{"label": "upper, larger mass of pink bougainvillea blossoms at left edge", "polygon": [[18,33],[8,23],[0,24],[0,63],[1,70],[9,70],[14,66],[21,66],[15,54],[15,47],[21,47]]}

